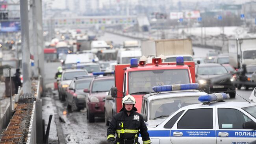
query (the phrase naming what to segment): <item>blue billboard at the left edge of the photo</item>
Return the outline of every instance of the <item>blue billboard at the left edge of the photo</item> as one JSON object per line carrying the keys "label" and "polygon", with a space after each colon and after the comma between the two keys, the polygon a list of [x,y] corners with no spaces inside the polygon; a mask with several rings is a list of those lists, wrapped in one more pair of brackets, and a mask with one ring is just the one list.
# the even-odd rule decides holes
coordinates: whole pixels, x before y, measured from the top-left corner
{"label": "blue billboard at the left edge of the photo", "polygon": [[20,31],[20,22],[1,22],[1,32]]}

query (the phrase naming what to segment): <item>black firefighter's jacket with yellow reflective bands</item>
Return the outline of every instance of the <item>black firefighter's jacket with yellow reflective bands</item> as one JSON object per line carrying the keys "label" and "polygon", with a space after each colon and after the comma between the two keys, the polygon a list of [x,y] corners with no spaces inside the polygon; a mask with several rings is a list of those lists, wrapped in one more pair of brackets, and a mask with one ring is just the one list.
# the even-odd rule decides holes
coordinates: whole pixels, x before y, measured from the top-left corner
{"label": "black firefighter's jacket with yellow reflective bands", "polygon": [[131,111],[130,115],[127,115],[127,112],[123,110],[113,116],[107,132],[109,143],[115,141],[115,133],[117,133],[116,144],[122,144],[124,139],[138,139],[139,133],[143,144],[150,144],[148,128],[143,117],[134,110]]}

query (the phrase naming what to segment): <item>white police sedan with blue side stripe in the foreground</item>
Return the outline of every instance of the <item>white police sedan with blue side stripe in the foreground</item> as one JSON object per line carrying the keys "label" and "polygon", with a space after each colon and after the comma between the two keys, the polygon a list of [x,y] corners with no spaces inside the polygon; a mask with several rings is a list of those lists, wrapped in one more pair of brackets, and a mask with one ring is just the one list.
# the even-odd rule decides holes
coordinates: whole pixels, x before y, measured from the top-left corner
{"label": "white police sedan with blue side stripe in the foreground", "polygon": [[151,144],[249,144],[254,141],[256,104],[224,102],[226,98],[225,93],[201,95],[198,100],[202,104],[180,108],[159,125],[148,127]]}

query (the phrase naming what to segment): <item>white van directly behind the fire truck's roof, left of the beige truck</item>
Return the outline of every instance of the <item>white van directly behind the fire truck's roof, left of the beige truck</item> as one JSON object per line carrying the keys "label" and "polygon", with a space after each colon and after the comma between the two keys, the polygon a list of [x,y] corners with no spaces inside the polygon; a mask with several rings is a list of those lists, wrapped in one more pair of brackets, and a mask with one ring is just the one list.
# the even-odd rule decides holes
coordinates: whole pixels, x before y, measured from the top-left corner
{"label": "white van directly behind the fire truck's roof, left of the beige truck", "polygon": [[120,49],[117,53],[118,64],[128,64],[130,63],[130,59],[132,58],[136,58],[139,61],[139,59],[141,58],[141,50]]}

